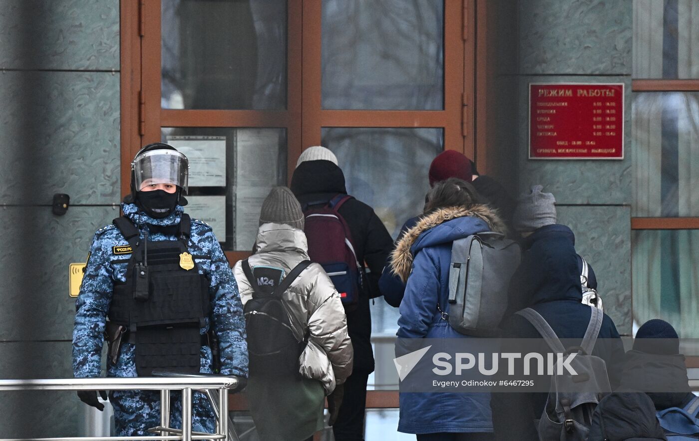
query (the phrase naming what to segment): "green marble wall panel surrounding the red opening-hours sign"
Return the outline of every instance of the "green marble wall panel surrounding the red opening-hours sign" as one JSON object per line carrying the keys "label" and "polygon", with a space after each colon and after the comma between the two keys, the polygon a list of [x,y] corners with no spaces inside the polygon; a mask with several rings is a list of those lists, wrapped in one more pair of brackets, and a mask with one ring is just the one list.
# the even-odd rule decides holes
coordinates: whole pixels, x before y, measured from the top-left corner
{"label": "green marble wall panel surrounding the red opening-hours sign", "polygon": [[[528,159],[529,83],[623,82],[624,159]],[[560,204],[630,204],[631,82],[626,77],[522,76],[519,78],[519,191],[541,184]]]}

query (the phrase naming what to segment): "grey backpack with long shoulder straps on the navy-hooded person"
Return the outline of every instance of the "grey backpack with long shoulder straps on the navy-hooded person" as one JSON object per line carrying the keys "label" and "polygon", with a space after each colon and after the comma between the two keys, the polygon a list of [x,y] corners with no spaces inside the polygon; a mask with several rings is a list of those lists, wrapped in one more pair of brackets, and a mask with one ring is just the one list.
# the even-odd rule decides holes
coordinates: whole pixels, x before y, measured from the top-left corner
{"label": "grey backpack with long shoulder straps on the navy-hooded person", "polygon": [[541,441],[585,441],[588,438],[592,416],[601,397],[612,388],[607,378],[605,361],[591,355],[602,327],[604,313],[591,307],[590,323],[579,347],[565,349],[544,317],[531,308],[517,312],[531,323],[556,354],[577,352],[570,366],[577,375],[563,370],[563,375],[551,376],[551,388],[546,407],[538,421]]}

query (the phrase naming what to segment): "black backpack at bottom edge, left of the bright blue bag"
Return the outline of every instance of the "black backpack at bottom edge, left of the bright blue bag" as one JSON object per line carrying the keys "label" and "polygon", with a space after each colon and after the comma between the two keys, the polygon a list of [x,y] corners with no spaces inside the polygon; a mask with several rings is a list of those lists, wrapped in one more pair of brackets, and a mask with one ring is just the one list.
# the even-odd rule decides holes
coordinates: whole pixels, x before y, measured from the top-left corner
{"label": "black backpack at bottom edge, left of the bright blue bag", "polygon": [[595,409],[588,441],[667,440],[656,418],[656,410],[643,392],[614,392]]}

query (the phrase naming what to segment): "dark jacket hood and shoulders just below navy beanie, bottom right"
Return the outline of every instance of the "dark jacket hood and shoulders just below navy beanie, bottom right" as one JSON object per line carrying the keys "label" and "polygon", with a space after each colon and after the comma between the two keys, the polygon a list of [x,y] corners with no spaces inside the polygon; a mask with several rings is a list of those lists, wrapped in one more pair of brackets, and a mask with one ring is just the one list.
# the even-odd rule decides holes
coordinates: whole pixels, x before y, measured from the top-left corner
{"label": "dark jacket hood and shoulders just below navy beanie, bottom right", "polygon": [[693,398],[682,354],[626,352],[621,388],[645,392],[657,410],[682,408]]}

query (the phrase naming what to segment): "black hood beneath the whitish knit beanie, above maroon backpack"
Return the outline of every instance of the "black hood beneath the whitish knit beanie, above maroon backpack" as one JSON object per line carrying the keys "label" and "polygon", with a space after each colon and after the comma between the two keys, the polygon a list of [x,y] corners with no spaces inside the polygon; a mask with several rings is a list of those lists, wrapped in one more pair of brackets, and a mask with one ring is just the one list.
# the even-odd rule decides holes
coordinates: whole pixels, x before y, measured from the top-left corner
{"label": "black hood beneath the whitish knit beanie, above maroon backpack", "polygon": [[303,161],[291,176],[291,191],[302,204],[330,199],[347,193],[345,175],[331,161]]}

